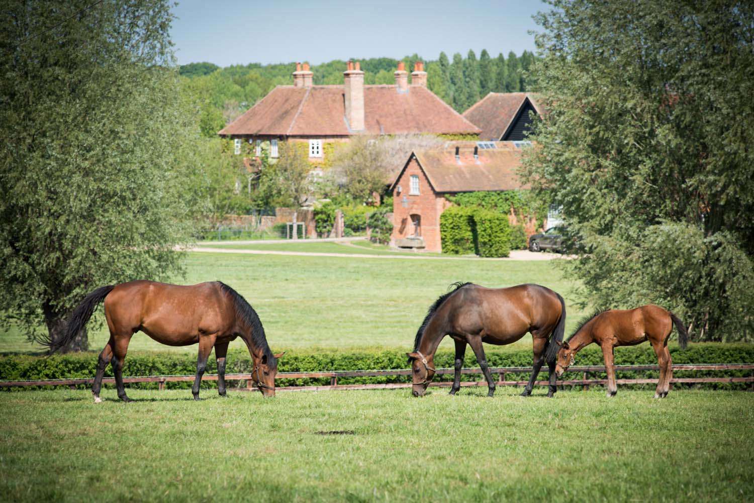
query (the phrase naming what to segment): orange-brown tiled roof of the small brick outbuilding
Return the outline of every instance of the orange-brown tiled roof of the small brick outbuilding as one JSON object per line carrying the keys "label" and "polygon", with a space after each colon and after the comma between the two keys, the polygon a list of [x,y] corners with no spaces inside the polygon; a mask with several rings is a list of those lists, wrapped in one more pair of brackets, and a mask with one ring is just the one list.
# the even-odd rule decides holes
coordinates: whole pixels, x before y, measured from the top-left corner
{"label": "orange-brown tiled roof of the small brick outbuilding", "polygon": [[[474,159],[474,142],[448,142],[439,149],[412,152],[403,165],[391,191],[395,189],[412,158],[427,175],[434,192],[476,192],[528,189],[521,184],[516,170],[521,164],[521,149],[513,142],[495,142],[495,149],[478,149]],[[458,146],[458,160],[455,147]]]}

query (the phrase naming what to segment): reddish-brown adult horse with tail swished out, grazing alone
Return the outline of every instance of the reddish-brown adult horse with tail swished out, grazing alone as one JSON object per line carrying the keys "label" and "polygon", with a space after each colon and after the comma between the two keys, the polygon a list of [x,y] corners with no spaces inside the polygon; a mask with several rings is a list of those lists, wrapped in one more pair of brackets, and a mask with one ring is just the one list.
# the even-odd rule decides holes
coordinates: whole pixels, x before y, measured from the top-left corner
{"label": "reddish-brown adult horse with tail swished out, grazing alone", "polygon": [[103,300],[110,339],[97,362],[97,375],[92,386],[96,403],[102,401],[102,378],[111,361],[118,397],[124,402],[130,401],[121,371],[131,336],[139,330],[155,341],[171,346],[199,343],[192,388],[194,400],[199,400],[199,384],[212,348],[215,348],[217,359],[217,391],[220,396],[225,396],[225,355],[228,344],[240,336],[253,360],[252,379],[265,397],[274,396],[277,358],[283,354],[272,354],[256,311],[228,285],[219,281],[192,286],[130,281],[97,288],[75,308],[66,333],[57,344],[50,344],[51,350],[57,351],[72,340]]}

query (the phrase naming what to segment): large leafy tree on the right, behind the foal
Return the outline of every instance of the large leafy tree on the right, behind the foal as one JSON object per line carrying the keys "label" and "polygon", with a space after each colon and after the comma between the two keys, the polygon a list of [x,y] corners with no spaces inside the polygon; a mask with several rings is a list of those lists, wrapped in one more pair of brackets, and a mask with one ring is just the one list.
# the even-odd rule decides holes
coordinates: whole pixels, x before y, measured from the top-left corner
{"label": "large leafy tree on the right, behind the foal", "polygon": [[754,5],[550,4],[524,174],[581,236],[567,270],[596,307],[754,338]]}

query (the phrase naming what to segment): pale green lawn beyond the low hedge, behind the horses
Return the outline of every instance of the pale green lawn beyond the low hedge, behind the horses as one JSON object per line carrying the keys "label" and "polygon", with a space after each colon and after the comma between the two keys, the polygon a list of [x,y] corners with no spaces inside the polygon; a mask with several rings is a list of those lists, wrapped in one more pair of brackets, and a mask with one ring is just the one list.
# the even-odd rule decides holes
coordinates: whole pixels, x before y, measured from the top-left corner
{"label": "pale green lawn beyond the low hedge, behind the horses", "polygon": [[[579,299],[572,293],[574,285],[547,261],[189,253],[187,270],[185,279],[175,281],[195,284],[219,280],[246,297],[259,313],[275,351],[312,346],[410,348],[428,307],[455,281],[486,287],[522,283],[550,287],[566,299],[567,331],[575,329],[584,314],[575,307]],[[103,321],[101,307],[93,319]],[[107,339],[104,324],[90,330],[93,350],[99,351]],[[531,345],[530,336],[518,344],[519,348]],[[130,348],[197,351],[195,346],[169,348],[143,333],[133,337]],[[443,348],[452,348],[449,338]],[[18,330],[0,333],[0,351],[34,349],[39,348],[25,342]]]}

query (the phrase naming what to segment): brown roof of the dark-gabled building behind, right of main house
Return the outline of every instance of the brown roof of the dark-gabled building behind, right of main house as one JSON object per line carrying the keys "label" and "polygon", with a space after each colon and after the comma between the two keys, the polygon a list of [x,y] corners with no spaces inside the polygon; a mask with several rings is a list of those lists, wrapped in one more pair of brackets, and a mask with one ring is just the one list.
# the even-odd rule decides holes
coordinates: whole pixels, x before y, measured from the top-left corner
{"label": "brown roof of the dark-gabled building behind, right of main house", "polygon": [[541,115],[531,93],[489,93],[464,112],[464,118],[482,130],[480,140],[497,141],[513,126],[527,100]]}

